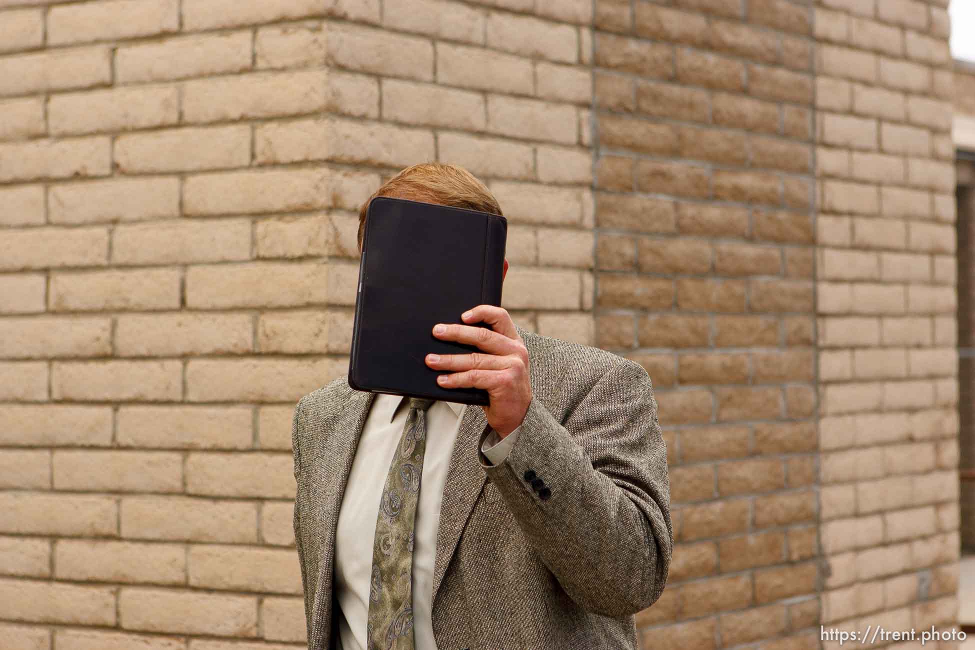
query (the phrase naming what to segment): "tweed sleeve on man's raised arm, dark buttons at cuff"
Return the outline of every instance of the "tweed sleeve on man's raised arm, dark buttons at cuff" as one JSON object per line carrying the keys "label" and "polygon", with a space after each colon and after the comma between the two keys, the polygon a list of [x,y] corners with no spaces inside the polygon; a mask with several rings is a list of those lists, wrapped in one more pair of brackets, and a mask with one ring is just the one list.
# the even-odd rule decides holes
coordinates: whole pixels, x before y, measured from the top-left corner
{"label": "tweed sleeve on man's raised arm, dark buttons at cuff", "polygon": [[613,364],[564,424],[532,398],[504,460],[491,465],[483,453],[479,460],[528,543],[579,605],[624,616],[660,597],[674,545],[670,481],[640,364]]}

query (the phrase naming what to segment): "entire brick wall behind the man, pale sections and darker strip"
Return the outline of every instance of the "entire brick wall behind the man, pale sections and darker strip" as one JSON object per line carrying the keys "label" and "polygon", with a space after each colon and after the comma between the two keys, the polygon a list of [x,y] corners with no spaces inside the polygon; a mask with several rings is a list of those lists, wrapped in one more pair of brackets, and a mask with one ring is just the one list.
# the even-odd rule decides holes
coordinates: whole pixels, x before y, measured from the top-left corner
{"label": "entire brick wall behind the man, pale sections and darker strip", "polygon": [[643,647],[952,623],[946,5],[0,0],[0,645],[303,646],[292,409],[424,160],[508,215],[519,325],[653,380]]}

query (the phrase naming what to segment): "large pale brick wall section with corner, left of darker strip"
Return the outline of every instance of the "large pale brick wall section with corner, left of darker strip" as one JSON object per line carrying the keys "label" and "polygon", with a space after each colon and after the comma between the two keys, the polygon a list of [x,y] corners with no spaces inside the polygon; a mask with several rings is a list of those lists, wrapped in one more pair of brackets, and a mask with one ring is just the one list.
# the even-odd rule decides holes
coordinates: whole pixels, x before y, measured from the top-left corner
{"label": "large pale brick wall section with corner, left of darker strip", "polygon": [[504,304],[594,340],[591,14],[0,0],[0,646],[303,645],[292,409],[399,169],[484,178]]}

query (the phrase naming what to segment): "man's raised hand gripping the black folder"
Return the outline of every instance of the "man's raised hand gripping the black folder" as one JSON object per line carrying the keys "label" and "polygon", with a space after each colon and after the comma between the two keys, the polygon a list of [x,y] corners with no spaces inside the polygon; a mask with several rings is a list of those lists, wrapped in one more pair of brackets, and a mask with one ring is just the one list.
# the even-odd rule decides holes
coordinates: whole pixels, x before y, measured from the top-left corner
{"label": "man's raised hand gripping the black folder", "polygon": [[517,429],[531,402],[528,351],[507,310],[478,305],[460,317],[464,323],[485,322],[491,326],[435,325],[433,335],[444,341],[473,345],[487,354],[427,355],[435,370],[453,370],[437,377],[443,388],[481,388],[490,396],[482,406],[487,424],[501,438]]}

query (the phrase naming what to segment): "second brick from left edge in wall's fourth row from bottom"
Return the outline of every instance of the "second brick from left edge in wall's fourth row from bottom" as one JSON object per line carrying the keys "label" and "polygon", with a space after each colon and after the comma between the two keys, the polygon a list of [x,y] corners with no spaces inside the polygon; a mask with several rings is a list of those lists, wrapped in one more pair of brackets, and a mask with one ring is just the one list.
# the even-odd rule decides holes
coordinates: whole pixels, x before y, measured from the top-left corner
{"label": "second brick from left edge in wall's fourth row from bottom", "polygon": [[177,496],[125,497],[121,502],[120,519],[122,537],[126,539],[228,544],[257,541],[257,508],[254,503],[244,501]]}

